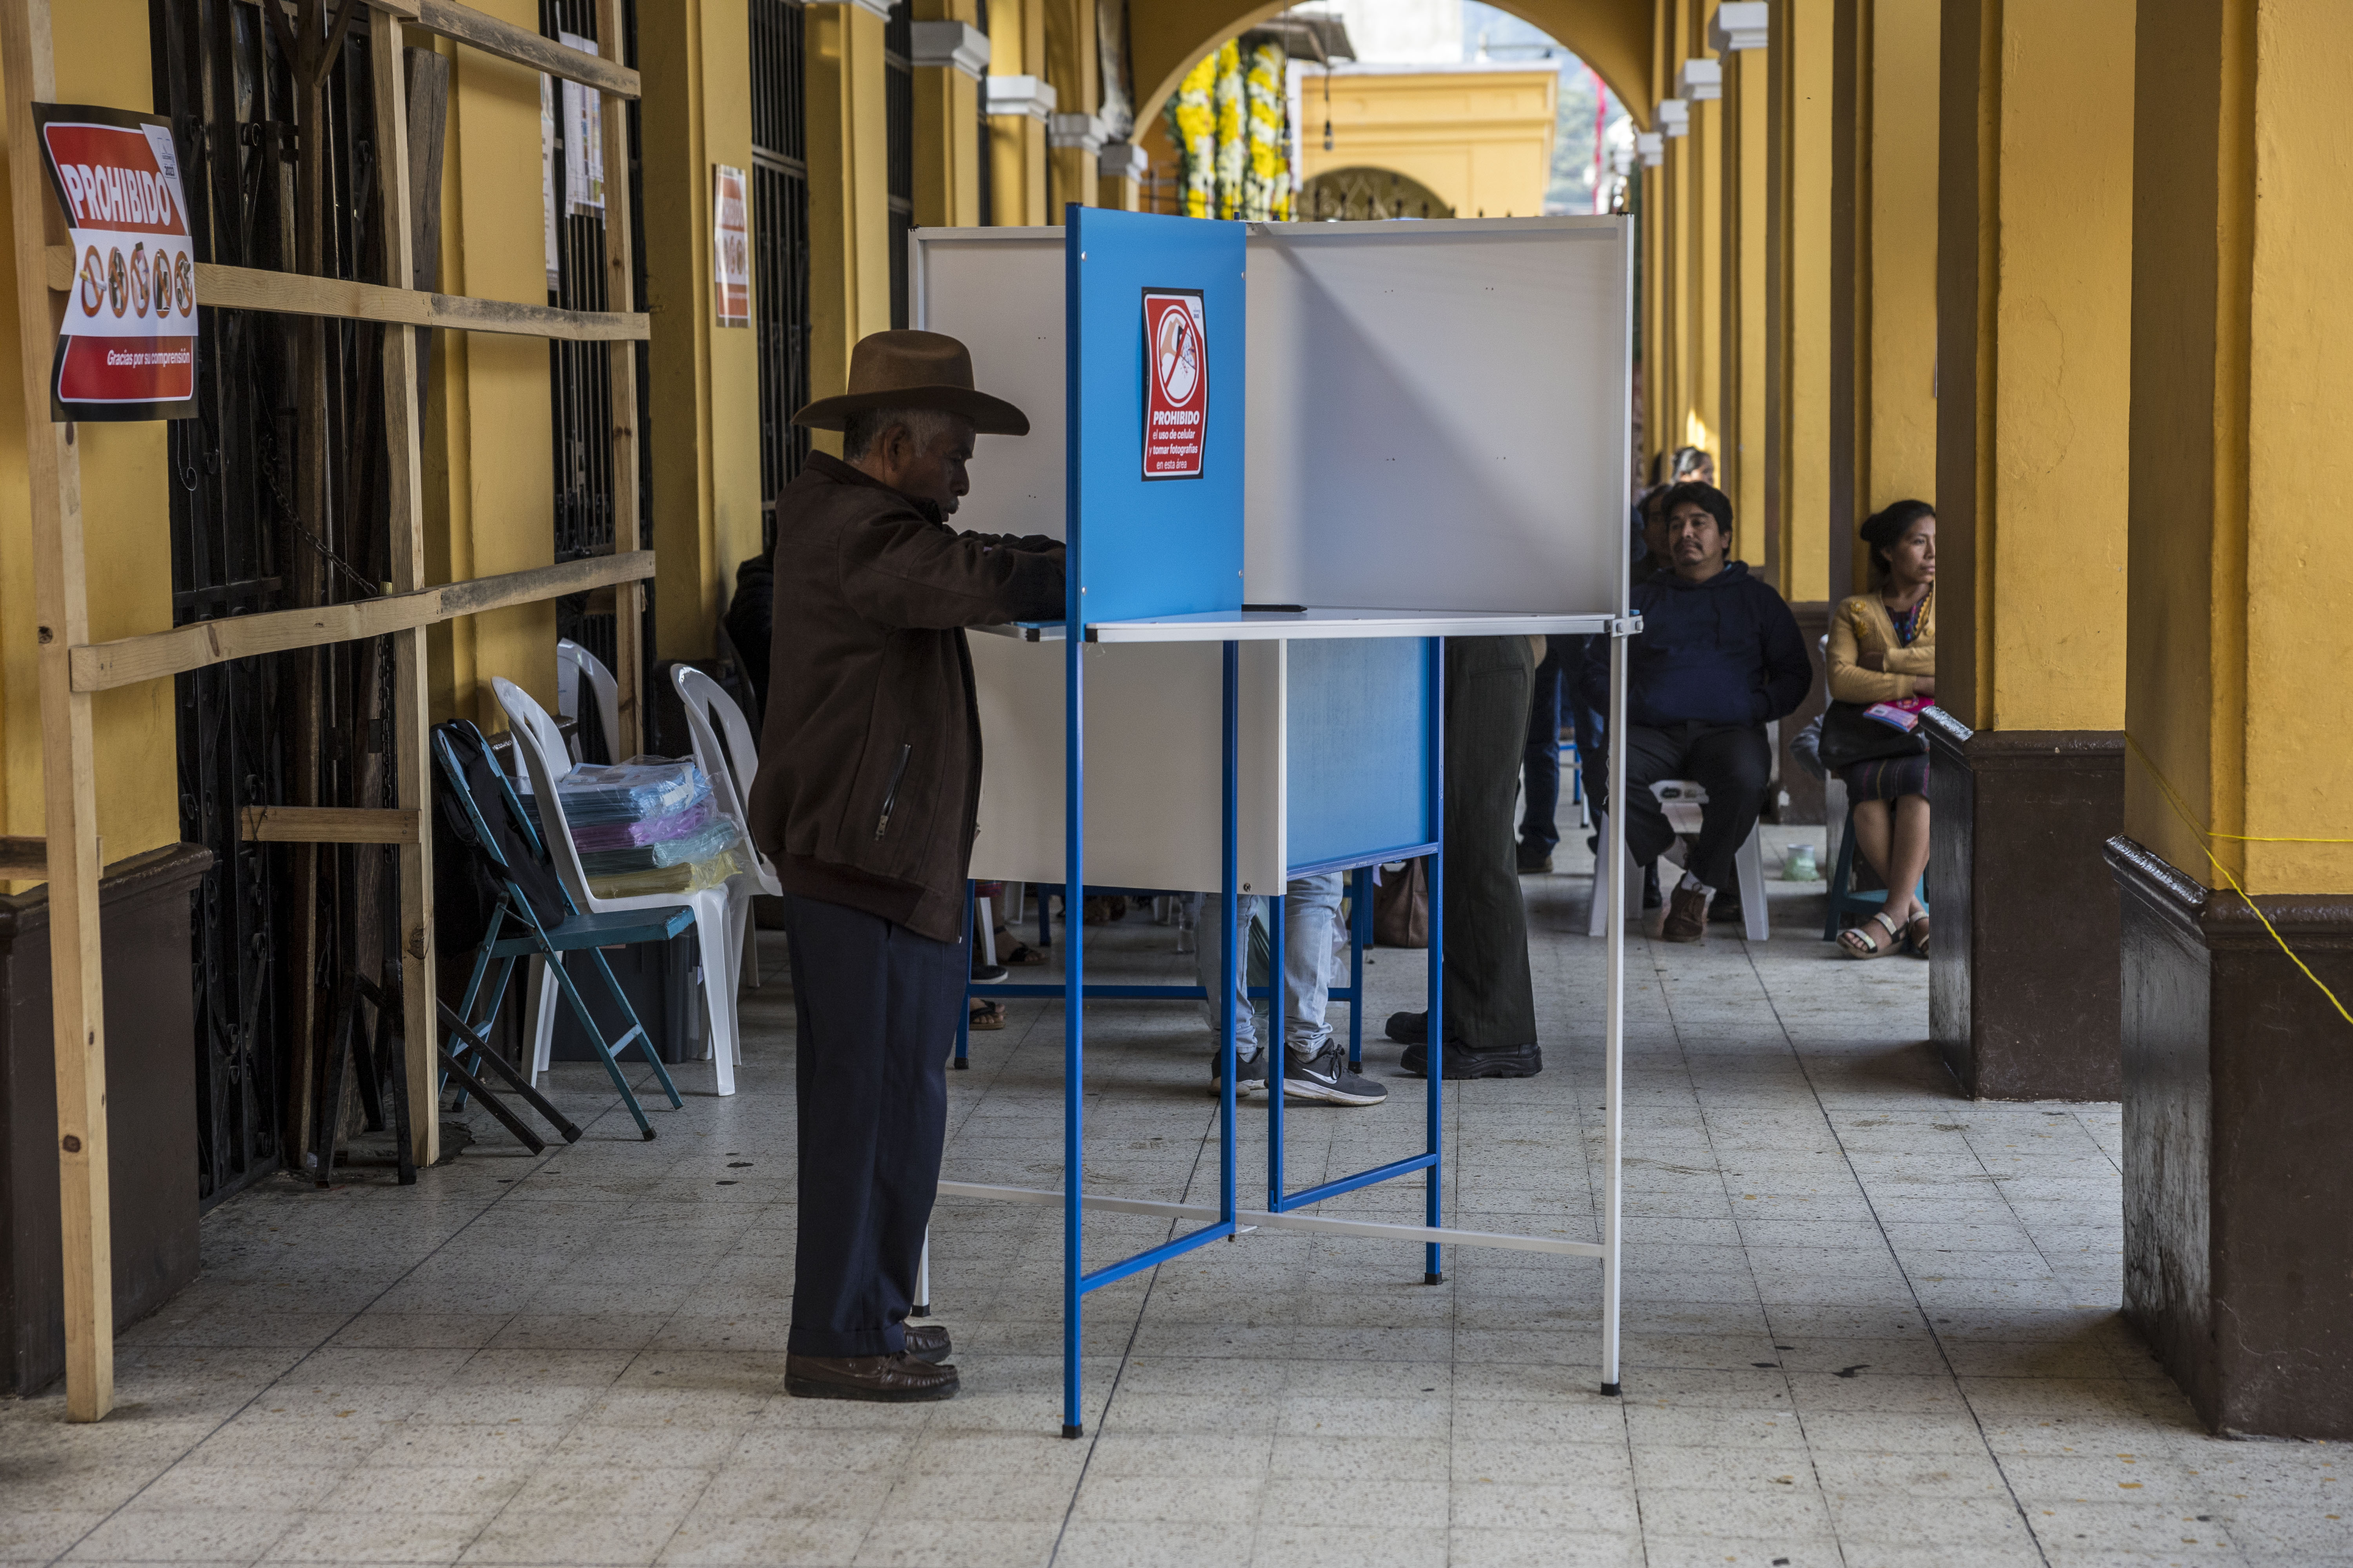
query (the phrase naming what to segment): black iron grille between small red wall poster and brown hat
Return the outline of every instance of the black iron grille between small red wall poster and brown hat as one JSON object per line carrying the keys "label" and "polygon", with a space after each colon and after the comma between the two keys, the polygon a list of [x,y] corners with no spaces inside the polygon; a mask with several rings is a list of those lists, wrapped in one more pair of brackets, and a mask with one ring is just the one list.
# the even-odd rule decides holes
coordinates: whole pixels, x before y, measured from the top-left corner
{"label": "black iron grille between small red wall poster and brown hat", "polygon": [[809,456],[809,139],[800,0],[751,0],[751,324],[760,357],[760,552]]}

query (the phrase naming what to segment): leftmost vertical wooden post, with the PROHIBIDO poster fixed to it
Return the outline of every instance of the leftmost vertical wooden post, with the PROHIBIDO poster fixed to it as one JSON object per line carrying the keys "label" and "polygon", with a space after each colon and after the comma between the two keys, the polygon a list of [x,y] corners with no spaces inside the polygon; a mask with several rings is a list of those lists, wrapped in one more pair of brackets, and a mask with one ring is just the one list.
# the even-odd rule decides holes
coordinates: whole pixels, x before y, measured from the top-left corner
{"label": "leftmost vertical wooden post, with the PROHIBIDO poster fixed to it", "polygon": [[56,101],[49,0],[0,0],[7,71],[9,228],[16,244],[16,390],[31,480],[38,625],[40,780],[49,849],[49,1039],[56,1058],[56,1192],[64,1232],[66,1418],[115,1403],[115,1253],[106,1159],[106,1006],[99,971],[99,790],[89,693],[68,651],[89,639],[82,576],[82,458],[73,425],[49,418],[49,355],[66,299],[42,277],[42,247],[66,242],[49,200],[33,103]]}

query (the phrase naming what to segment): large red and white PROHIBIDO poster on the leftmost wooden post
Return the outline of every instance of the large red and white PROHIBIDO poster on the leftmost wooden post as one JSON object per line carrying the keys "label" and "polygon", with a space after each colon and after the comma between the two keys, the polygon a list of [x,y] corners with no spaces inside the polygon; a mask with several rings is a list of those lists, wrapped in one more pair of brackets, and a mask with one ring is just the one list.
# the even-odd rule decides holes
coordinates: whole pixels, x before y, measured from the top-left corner
{"label": "large red and white PROHIBIDO poster on the leftmost wooden post", "polygon": [[54,418],[195,416],[195,252],[167,120],[35,103],[73,235]]}

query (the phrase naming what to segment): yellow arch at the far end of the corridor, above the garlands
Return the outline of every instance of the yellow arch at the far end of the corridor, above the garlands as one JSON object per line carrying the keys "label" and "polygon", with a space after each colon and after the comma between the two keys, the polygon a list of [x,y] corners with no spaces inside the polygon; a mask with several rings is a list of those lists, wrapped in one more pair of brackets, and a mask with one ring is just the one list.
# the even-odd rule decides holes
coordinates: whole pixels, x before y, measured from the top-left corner
{"label": "yellow arch at the far end of the corridor, above the garlands", "polygon": [[[1649,127],[1654,0],[1494,0],[1593,66],[1635,125]],[[1228,38],[1287,9],[1287,0],[1127,0],[1136,125],[1153,122],[1186,71]]]}

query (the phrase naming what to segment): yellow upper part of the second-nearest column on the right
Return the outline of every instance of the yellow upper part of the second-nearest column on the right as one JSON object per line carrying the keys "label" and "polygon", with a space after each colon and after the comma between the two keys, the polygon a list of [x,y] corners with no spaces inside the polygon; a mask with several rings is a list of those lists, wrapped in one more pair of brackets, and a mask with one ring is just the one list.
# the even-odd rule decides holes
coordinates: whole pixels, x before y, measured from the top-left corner
{"label": "yellow upper part of the second-nearest column on the right", "polygon": [[2125,710],[2132,0],[1944,2],[1937,701]]}

